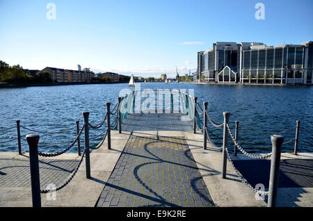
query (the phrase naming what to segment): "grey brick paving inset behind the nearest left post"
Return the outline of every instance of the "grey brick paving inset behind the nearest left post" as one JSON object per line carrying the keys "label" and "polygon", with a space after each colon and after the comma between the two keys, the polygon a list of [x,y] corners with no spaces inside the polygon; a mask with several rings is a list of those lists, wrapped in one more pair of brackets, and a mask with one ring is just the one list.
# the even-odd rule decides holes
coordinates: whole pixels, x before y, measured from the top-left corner
{"label": "grey brick paving inset behind the nearest left post", "polygon": [[[40,186],[59,186],[77,167],[79,161],[45,159],[39,161]],[[28,160],[0,158],[0,187],[31,187]]]}

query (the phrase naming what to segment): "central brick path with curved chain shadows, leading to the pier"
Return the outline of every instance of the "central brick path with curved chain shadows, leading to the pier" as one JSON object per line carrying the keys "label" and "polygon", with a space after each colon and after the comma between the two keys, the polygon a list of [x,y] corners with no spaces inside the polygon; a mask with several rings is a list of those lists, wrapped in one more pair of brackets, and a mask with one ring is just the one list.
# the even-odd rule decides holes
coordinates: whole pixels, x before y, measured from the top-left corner
{"label": "central brick path with curved chain shadows, leading to the pier", "polygon": [[184,137],[131,136],[96,206],[214,206]]}

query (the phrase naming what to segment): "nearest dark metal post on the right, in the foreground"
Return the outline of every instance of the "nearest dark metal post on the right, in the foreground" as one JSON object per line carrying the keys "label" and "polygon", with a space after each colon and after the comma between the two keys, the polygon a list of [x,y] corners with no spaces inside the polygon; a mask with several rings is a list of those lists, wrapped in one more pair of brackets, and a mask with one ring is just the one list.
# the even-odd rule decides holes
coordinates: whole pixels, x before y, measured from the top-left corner
{"label": "nearest dark metal post on the right, in the foreground", "polygon": [[278,196],[278,179],[280,174],[280,150],[284,137],[280,135],[272,135],[272,159],[271,159],[271,174],[269,181],[268,190],[268,207],[275,207]]}

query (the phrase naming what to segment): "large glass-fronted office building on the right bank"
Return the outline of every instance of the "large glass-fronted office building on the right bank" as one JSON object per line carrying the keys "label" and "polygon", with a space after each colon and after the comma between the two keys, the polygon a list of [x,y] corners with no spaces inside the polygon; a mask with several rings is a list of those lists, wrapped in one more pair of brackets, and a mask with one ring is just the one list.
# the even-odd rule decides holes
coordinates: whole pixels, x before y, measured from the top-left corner
{"label": "large glass-fronted office building on the right bank", "polygon": [[198,52],[199,76],[215,83],[312,84],[313,42],[216,42]]}

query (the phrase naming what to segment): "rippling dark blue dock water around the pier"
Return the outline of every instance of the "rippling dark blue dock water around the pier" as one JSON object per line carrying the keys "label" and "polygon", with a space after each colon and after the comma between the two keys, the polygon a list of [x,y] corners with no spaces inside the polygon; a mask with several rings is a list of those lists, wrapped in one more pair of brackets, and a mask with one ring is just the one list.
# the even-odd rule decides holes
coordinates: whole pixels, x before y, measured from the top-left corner
{"label": "rippling dark blue dock water around the pier", "polygon": [[[14,126],[20,120],[22,126],[37,131],[58,131],[75,126],[75,121],[83,124],[83,111],[90,112],[91,124],[100,122],[106,114],[106,102],[111,107],[117,103],[120,90],[128,89],[127,83],[102,85],[65,85],[50,87],[5,88],[0,89],[0,130]],[[305,86],[254,86],[254,85],[197,85],[194,83],[141,83],[141,90],[157,89],[193,89],[198,103],[208,101],[211,118],[218,124],[223,123],[223,111],[230,111],[230,126],[235,120],[241,129],[254,133],[275,133],[296,125],[300,120],[299,152],[312,152],[313,134],[303,130],[312,129],[313,88]],[[102,127],[105,129],[105,125]],[[96,136],[102,130],[90,129],[90,136]],[[0,142],[16,137],[16,129],[0,132]],[[21,129],[22,138],[31,131]],[[74,140],[76,129],[65,133],[42,134],[40,142],[56,143]],[[223,129],[209,124],[209,134],[216,145],[221,145]],[[213,135],[212,135],[213,134]],[[215,136],[214,136],[215,135]],[[284,141],[295,136],[295,129],[282,134]],[[82,136],[83,138],[83,136]],[[95,147],[102,137],[90,140]],[[269,136],[259,136],[239,129],[239,140],[255,145],[271,145]],[[83,139],[81,139],[83,144]],[[241,142],[239,142],[241,143]],[[69,144],[70,145],[70,142]],[[40,145],[42,152],[56,152],[68,146]],[[232,142],[230,142],[232,145]],[[83,145],[81,145],[83,146]],[[77,152],[75,145],[69,152]],[[249,148],[250,152],[269,152],[271,148]],[[285,152],[292,152],[294,142],[283,146]],[[232,149],[232,148],[230,148]],[[0,143],[0,151],[17,152],[17,140]],[[28,145],[22,140],[22,151],[28,151]]]}

